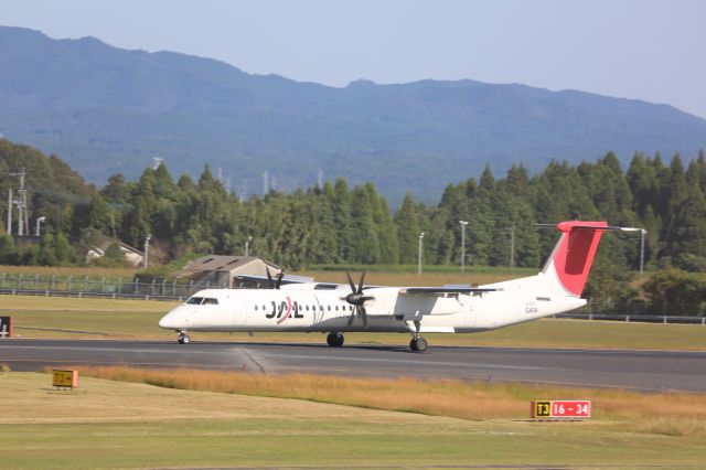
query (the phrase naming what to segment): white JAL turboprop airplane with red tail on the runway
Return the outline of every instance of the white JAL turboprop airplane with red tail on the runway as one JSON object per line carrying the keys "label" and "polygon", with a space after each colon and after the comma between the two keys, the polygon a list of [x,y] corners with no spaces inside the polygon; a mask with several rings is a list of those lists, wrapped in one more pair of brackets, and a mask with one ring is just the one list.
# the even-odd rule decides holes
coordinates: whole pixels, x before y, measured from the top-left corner
{"label": "white JAL turboprop airplane with red tail on the runway", "polygon": [[[190,331],[328,332],[330,346],[343,345],[354,331],[411,334],[409,348],[425,352],[421,333],[471,333],[493,330],[586,305],[581,291],[605,231],[635,228],[607,222],[561,222],[561,233],[536,276],[485,286],[357,286],[312,282],[279,276],[271,289],[207,289],[196,292],[159,322],[189,343]],[[242,276],[263,280],[263,277]]]}

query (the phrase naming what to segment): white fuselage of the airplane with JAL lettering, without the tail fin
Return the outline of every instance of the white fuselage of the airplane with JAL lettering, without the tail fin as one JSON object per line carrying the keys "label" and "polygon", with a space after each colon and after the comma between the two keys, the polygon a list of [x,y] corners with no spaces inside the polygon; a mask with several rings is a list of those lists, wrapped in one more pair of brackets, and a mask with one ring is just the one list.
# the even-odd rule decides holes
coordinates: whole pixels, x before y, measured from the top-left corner
{"label": "white fuselage of the airplane with JAL lettering, without the tail fin", "polygon": [[[567,292],[554,271],[498,282],[484,293],[406,293],[397,287],[366,288],[366,320],[356,316],[345,296],[347,286],[314,289],[288,285],[281,289],[210,289],[183,303],[160,321],[175,331],[304,331],[304,332],[410,332],[418,322],[421,333],[492,330],[579,308],[585,300]],[[214,303],[217,302],[217,303]]]}

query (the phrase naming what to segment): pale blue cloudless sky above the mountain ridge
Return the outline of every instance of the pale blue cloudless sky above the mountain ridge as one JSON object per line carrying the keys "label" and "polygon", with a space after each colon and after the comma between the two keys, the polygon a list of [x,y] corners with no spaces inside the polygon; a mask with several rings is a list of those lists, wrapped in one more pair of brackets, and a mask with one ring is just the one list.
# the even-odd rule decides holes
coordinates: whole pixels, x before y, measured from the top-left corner
{"label": "pale blue cloudless sky above the mountain ridge", "polygon": [[330,86],[471,78],[706,118],[703,0],[0,0],[0,24]]}

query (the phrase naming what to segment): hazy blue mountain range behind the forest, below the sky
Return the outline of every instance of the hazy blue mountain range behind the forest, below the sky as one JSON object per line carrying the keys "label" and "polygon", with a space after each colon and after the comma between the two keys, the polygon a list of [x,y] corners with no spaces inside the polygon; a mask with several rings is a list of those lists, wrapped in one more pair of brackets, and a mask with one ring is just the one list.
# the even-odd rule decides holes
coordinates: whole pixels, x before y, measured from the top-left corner
{"label": "hazy blue mountain range behind the forest, below the sky", "polygon": [[[256,46],[244,44],[237,46]],[[135,178],[164,158],[172,173],[204,163],[232,189],[325,179],[374,181],[436,201],[449,182],[524,162],[595,160],[608,150],[692,156],[706,120],[671,106],[473,81],[345,88],[250,75],[222,62],[126,51],[93,38],[52,40],[0,26],[0,133],[57,153],[89,181]]]}

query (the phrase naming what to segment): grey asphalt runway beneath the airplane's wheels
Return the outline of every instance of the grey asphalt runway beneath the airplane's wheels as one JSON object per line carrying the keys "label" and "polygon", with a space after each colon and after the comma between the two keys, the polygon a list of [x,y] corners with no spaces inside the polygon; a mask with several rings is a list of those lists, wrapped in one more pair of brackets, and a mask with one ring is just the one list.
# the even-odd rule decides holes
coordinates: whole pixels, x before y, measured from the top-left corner
{"label": "grey asphalt runway beneath the airplane's wheels", "polygon": [[113,364],[706,393],[705,352],[431,346],[426,354],[419,354],[393,345],[9,339],[0,340],[0,363],[13,371]]}

